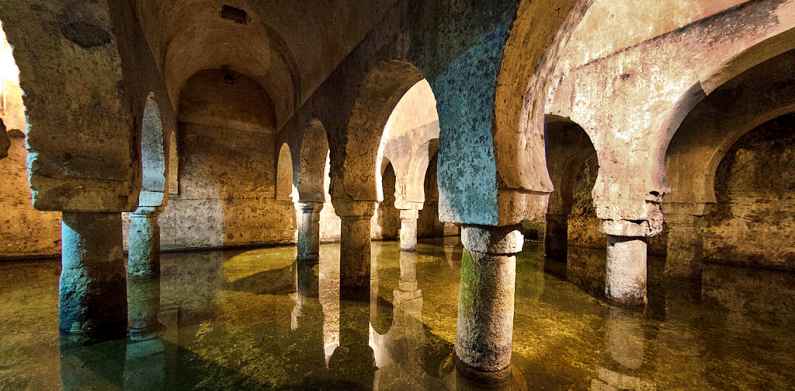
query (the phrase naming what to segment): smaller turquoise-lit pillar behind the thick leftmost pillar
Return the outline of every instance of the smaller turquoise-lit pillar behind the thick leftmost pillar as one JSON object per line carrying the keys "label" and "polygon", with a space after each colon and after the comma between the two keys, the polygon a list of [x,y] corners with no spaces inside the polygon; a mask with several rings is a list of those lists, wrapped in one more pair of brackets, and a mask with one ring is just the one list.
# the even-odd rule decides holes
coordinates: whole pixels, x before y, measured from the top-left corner
{"label": "smaller turquoise-lit pillar behind the thick leftmost pillar", "polygon": [[130,213],[127,275],[131,278],[160,276],[160,209],[139,207]]}

